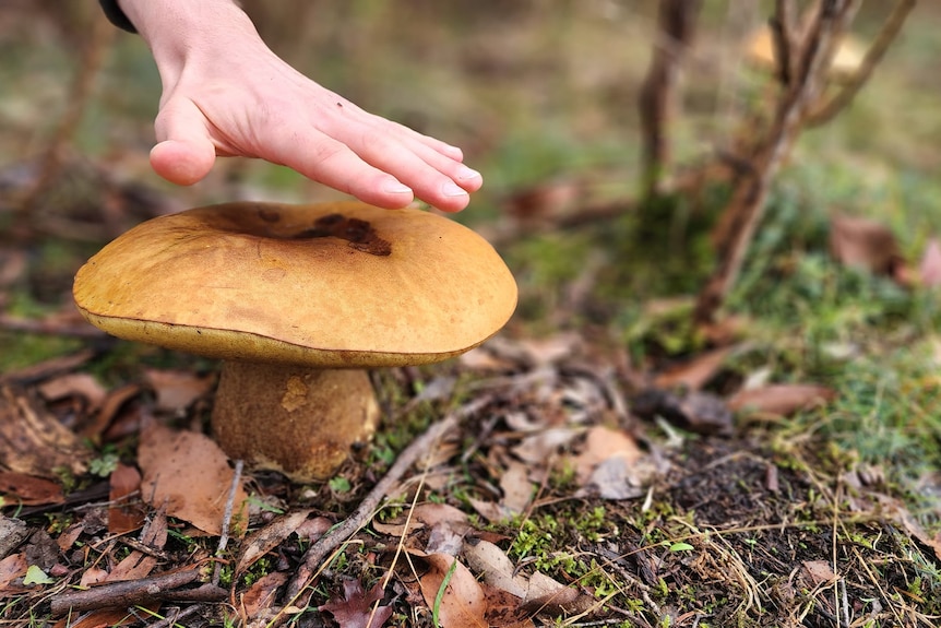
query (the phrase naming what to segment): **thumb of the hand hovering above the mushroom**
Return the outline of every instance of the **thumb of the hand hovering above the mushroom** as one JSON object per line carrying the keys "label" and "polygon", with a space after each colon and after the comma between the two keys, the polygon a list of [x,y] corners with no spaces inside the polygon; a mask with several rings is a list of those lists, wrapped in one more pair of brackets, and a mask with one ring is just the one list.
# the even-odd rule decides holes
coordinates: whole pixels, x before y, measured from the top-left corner
{"label": "thumb of the hand hovering above the mushroom", "polygon": [[213,167],[216,150],[202,111],[190,100],[166,103],[155,122],[158,143],[151,150],[151,167],[179,186],[191,186]]}

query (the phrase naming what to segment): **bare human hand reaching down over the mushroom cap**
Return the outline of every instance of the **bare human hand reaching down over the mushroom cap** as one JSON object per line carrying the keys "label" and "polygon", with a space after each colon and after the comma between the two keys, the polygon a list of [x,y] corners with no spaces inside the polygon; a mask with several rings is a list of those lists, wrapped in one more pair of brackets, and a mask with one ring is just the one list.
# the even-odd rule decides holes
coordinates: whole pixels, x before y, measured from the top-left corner
{"label": "bare human hand reaching down over the mushroom cap", "polygon": [[229,0],[121,5],[160,72],[151,165],[169,181],[201,180],[217,155],[258,157],[378,206],[418,198],[450,212],[483,185],[460,149],[369,114],[294,70]]}

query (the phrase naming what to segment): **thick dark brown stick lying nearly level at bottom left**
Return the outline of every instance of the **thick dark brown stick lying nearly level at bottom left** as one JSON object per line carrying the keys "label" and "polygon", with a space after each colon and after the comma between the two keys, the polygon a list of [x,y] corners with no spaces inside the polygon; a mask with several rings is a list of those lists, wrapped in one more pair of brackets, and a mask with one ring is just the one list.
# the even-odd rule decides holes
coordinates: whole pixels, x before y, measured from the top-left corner
{"label": "thick dark brown stick lying nearly level at bottom left", "polygon": [[195,582],[199,577],[199,569],[188,569],[62,593],[52,597],[51,612],[53,616],[61,617],[70,612],[84,613],[95,608],[135,606],[164,600],[218,602],[226,599],[228,593],[224,589],[211,584],[196,589],[180,589]]}

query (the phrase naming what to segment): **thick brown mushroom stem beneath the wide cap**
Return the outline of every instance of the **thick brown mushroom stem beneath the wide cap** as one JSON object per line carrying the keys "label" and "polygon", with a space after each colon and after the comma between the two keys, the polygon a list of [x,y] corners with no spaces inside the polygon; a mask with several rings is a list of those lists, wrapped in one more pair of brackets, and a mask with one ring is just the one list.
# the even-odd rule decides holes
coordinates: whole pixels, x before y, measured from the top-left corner
{"label": "thick brown mushroom stem beneath the wide cap", "polygon": [[295,482],[330,477],[376,430],[379,405],[364,370],[226,362],[212,427],[223,450]]}

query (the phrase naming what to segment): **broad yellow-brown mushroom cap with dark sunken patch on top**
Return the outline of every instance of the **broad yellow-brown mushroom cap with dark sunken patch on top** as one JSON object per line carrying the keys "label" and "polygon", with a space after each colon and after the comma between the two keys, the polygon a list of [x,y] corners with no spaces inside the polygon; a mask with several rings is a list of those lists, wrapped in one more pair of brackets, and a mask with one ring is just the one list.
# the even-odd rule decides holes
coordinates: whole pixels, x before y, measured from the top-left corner
{"label": "broad yellow-brown mushroom cap with dark sunken patch on top", "polygon": [[420,210],[227,203],[160,216],[79,270],[118,337],[324,368],[440,362],[505,324],[516,283],[479,235]]}

